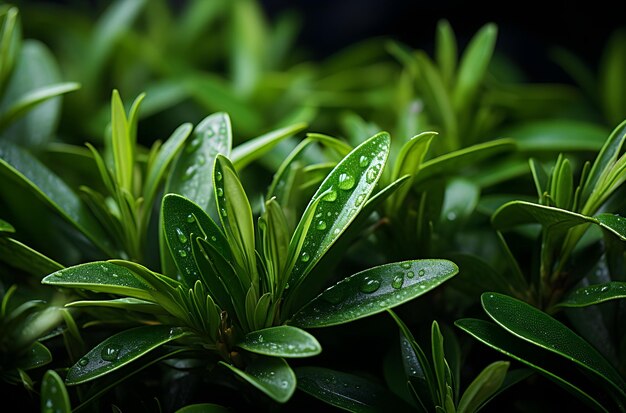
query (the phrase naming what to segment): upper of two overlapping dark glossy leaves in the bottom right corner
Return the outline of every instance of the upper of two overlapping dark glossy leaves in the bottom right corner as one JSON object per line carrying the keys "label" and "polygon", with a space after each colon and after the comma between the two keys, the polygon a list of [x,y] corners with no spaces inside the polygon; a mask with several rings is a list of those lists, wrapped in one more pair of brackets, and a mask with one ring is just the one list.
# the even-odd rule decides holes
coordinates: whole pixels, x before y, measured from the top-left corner
{"label": "upper of two overlapping dark glossy leaves in the bottom right corner", "polygon": [[485,312],[505,330],[596,374],[626,396],[626,381],[589,343],[548,314],[515,298],[485,293]]}

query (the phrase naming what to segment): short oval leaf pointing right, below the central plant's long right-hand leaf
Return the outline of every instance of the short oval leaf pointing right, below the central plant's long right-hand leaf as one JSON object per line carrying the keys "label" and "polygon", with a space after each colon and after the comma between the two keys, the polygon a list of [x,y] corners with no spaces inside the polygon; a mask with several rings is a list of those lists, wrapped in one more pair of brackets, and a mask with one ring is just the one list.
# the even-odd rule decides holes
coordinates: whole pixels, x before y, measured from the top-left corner
{"label": "short oval leaf pointing right, below the central plant's long right-hand leaf", "polygon": [[291,326],[270,327],[246,334],[237,346],[272,357],[311,357],[322,351],[311,334]]}

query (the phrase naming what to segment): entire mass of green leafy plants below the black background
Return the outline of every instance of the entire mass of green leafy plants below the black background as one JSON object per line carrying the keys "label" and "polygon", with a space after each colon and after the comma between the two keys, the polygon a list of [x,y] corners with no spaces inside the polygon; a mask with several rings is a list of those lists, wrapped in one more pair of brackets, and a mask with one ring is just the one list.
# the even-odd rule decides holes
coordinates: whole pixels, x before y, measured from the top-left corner
{"label": "entire mass of green leafy plants below the black background", "polygon": [[26,24],[58,28],[82,89],[61,113],[81,85],[2,6],[3,389],[42,411],[452,413],[536,408],[512,386],[562,407],[560,387],[626,411],[623,33],[597,80],[555,54],[580,93],[503,70],[493,24],[460,56],[444,21],[434,58],[302,63],[294,17],[252,0],[41,7]]}

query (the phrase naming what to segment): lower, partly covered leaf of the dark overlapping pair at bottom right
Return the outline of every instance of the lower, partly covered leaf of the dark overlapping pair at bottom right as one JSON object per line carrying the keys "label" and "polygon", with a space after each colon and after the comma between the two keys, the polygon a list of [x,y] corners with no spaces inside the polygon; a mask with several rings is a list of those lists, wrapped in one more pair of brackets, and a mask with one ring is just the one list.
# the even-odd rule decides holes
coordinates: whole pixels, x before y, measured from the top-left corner
{"label": "lower, partly covered leaf of the dark overlapping pair at bottom right", "polygon": [[454,324],[489,347],[543,374],[593,409],[608,413],[596,399],[562,377],[559,366],[551,365],[549,358],[537,351],[536,346],[512,337],[499,326],[487,321],[465,318],[457,320]]}

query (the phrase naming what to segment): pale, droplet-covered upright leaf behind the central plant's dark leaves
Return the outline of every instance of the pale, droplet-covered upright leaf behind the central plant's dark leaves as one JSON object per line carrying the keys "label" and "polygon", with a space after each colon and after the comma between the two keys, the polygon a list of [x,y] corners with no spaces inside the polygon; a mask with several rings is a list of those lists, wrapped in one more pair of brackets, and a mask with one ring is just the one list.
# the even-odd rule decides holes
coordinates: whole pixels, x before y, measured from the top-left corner
{"label": "pale, droplet-covered upright leaf behind the central plant's dark leaves", "polygon": [[204,118],[185,143],[168,176],[166,193],[175,193],[209,211],[213,201],[213,163],[218,153],[230,155],[232,134],[226,113]]}

